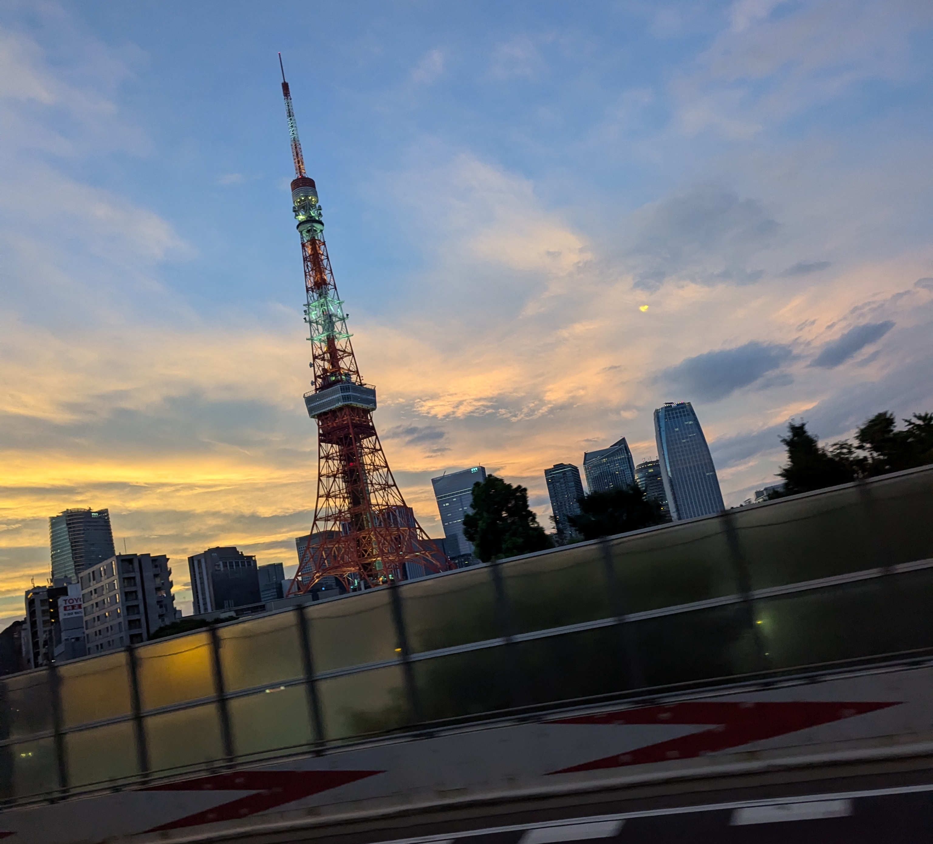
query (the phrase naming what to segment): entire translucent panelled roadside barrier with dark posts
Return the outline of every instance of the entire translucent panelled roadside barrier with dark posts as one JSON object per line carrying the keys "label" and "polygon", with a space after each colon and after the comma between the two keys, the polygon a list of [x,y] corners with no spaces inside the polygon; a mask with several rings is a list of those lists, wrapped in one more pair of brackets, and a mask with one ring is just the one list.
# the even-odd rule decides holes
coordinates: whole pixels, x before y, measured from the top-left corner
{"label": "entire translucent panelled roadside barrier with dark posts", "polygon": [[3,805],[933,647],[933,467],[0,679]]}

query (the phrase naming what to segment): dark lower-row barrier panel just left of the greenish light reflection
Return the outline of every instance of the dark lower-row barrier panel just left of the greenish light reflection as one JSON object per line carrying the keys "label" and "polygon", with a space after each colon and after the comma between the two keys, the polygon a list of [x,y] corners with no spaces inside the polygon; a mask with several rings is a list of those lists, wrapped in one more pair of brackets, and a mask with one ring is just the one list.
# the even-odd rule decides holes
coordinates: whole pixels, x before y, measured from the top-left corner
{"label": "dark lower-row barrier panel just left of the greenish light reflection", "polygon": [[765,668],[744,604],[626,624],[646,685],[734,677]]}

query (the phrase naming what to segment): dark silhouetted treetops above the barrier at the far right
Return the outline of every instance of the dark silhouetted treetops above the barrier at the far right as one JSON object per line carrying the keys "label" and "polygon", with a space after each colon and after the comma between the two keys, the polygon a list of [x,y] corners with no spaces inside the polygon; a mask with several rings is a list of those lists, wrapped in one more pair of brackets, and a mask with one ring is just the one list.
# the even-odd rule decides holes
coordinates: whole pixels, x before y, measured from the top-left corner
{"label": "dark silhouetted treetops above the barrier at the far right", "polygon": [[791,421],[787,436],[781,438],[787,446],[787,466],[778,471],[784,478],[782,494],[933,463],[933,414],[914,414],[903,422],[904,429],[898,430],[894,414],[883,411],[856,430],[855,443],[841,440],[826,446],[820,445],[805,422]]}

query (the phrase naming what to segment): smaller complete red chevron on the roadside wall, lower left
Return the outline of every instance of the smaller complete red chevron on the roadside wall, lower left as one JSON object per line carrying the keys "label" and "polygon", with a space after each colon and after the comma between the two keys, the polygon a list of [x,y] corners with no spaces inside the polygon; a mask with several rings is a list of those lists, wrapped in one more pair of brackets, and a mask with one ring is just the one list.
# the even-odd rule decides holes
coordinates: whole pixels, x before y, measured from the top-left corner
{"label": "smaller complete red chevron on the roadside wall, lower left", "polygon": [[195,812],[177,821],[153,826],[146,832],[162,832],[202,823],[234,821],[255,815],[259,811],[275,809],[293,800],[319,794],[338,785],[365,780],[383,771],[233,771],[214,774],[197,780],[154,785],[145,791],[254,791],[256,794],[238,797],[221,803],[213,809]]}

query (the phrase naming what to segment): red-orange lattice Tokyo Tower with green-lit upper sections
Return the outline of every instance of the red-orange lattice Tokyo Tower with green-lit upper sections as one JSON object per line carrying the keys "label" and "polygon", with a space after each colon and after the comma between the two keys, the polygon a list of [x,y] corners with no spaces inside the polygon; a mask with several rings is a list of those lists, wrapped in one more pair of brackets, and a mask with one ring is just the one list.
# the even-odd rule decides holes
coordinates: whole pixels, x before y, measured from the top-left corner
{"label": "red-orange lattice Tokyo Tower with green-lit upper sections", "polygon": [[313,390],[305,393],[304,403],[308,415],[317,420],[317,503],[311,536],[288,595],[307,592],[328,576],[357,590],[402,580],[412,571],[448,570],[452,567],[447,557],[406,506],[372,422],[376,388],[363,381],[356,365],[327,257],[317,188],[304,168],[284,67],[282,93],[295,162],[292,211],[301,238],[304,321],[311,331],[314,373]]}

